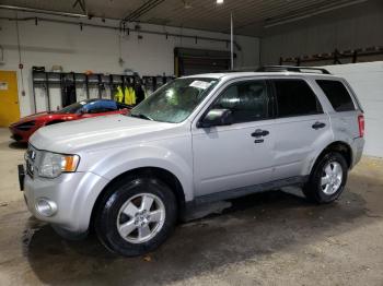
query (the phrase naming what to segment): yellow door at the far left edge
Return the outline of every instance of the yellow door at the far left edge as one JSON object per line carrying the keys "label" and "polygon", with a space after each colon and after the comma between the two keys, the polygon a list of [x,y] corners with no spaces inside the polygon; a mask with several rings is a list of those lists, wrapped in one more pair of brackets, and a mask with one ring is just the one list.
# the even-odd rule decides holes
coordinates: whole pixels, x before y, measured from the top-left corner
{"label": "yellow door at the far left edge", "polygon": [[0,71],[0,127],[9,127],[19,119],[16,72]]}

